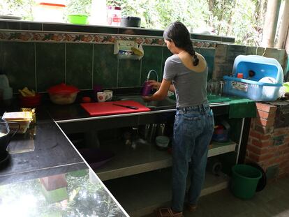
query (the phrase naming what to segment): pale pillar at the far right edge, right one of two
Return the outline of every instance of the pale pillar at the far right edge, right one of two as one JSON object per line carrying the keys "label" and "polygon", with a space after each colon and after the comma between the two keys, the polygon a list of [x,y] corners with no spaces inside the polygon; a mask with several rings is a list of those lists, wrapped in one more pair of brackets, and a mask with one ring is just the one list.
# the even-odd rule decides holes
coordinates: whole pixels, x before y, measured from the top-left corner
{"label": "pale pillar at the far right edge, right one of two", "polygon": [[[284,9],[282,14],[282,21],[281,26],[279,29],[279,40],[276,45],[276,48],[284,48],[286,44],[286,38],[289,31],[289,0],[284,1]],[[287,39],[288,41],[288,39]],[[287,50],[287,53],[289,53],[289,50]]]}

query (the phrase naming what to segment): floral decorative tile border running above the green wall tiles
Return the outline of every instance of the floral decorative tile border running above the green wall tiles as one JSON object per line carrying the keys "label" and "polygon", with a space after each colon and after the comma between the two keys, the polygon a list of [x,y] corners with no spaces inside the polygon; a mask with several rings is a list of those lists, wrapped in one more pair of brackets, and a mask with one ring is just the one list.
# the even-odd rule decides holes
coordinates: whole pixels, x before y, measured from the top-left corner
{"label": "floral decorative tile border running above the green wall tiles", "polygon": [[[165,46],[163,38],[152,38],[147,36],[117,36],[92,33],[45,33],[33,31],[0,32],[0,41],[113,44],[115,40],[135,40],[138,44],[142,45]],[[193,40],[193,46],[199,48],[216,48],[216,43]]]}

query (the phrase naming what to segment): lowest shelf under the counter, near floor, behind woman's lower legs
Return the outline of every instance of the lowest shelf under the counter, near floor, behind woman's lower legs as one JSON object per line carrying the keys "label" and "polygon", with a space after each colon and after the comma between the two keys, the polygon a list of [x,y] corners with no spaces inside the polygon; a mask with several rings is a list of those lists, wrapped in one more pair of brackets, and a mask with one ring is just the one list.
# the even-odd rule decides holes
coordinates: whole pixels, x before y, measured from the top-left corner
{"label": "lowest shelf under the counter, near floor, behind woman's lower legs", "polygon": [[[171,168],[105,181],[112,195],[130,216],[146,216],[159,207],[170,206]],[[225,174],[207,172],[201,196],[228,188]]]}

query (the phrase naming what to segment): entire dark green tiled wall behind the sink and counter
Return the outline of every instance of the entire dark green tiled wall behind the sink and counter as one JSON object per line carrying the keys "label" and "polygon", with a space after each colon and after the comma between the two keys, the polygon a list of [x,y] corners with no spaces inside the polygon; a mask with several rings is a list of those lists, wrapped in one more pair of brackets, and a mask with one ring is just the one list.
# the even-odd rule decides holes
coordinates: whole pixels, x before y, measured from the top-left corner
{"label": "entire dark green tiled wall behind the sink and counter", "polygon": [[[167,47],[144,45],[139,60],[119,59],[112,44],[90,43],[0,43],[0,70],[8,75],[14,92],[28,87],[47,91],[66,82],[79,89],[140,87],[149,70],[161,81],[165,60],[172,55]],[[204,55],[209,77],[214,67],[214,49],[196,49]],[[151,74],[151,79],[156,79]]]}

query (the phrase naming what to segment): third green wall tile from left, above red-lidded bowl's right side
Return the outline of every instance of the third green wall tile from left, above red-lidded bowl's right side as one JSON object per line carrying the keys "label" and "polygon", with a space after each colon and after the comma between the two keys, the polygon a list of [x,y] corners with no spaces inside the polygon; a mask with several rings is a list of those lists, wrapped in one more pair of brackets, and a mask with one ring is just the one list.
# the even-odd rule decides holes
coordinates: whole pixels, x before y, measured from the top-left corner
{"label": "third green wall tile from left, above red-lidded bowl's right side", "polygon": [[92,44],[66,44],[66,84],[92,89]]}

